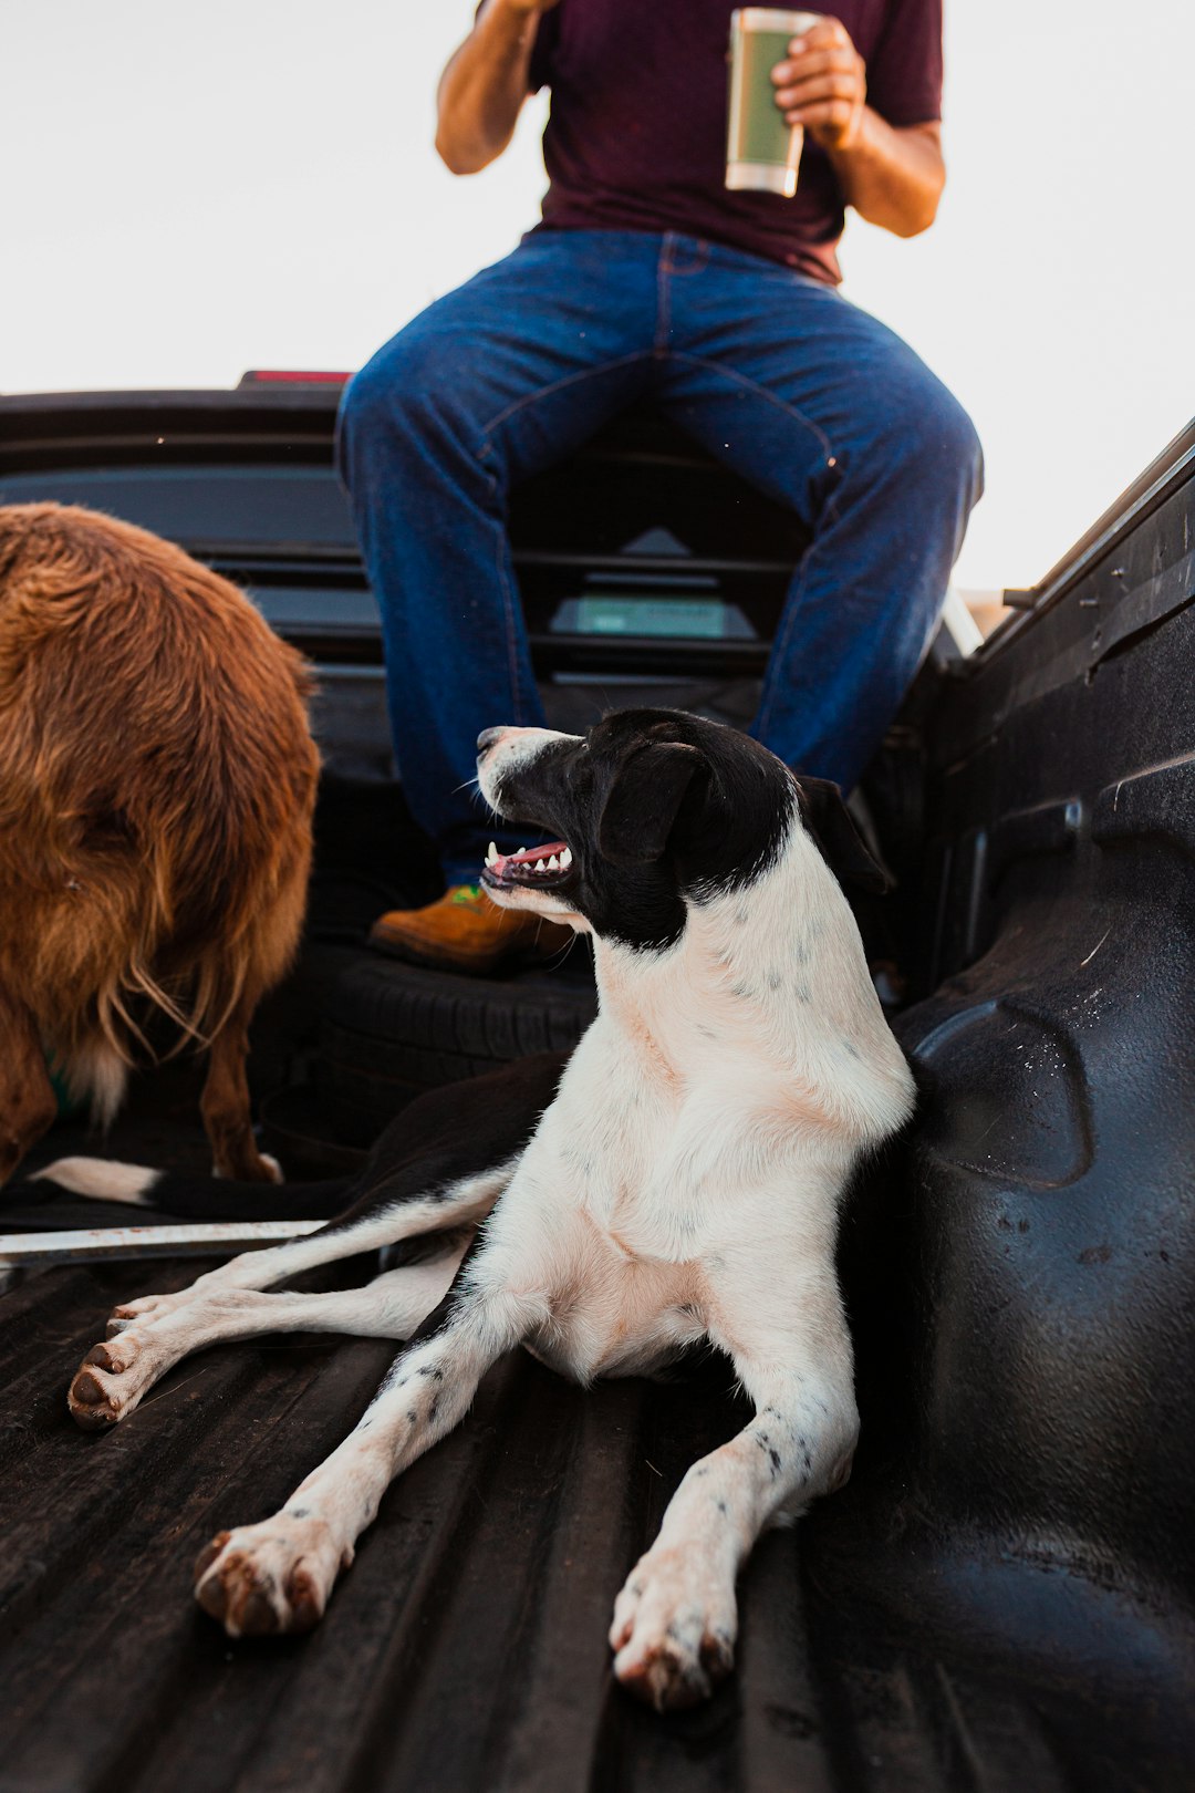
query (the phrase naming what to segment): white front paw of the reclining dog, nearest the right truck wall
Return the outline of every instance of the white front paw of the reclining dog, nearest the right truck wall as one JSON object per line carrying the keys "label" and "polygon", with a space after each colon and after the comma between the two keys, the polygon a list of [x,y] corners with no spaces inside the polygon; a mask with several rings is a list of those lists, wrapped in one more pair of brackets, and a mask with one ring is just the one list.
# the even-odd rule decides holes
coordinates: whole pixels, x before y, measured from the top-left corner
{"label": "white front paw of the reclining dog, nearest the right truck wall", "polygon": [[615,1675],[658,1712],[708,1700],[735,1666],[735,1583],[692,1549],[656,1546],[615,1601]]}

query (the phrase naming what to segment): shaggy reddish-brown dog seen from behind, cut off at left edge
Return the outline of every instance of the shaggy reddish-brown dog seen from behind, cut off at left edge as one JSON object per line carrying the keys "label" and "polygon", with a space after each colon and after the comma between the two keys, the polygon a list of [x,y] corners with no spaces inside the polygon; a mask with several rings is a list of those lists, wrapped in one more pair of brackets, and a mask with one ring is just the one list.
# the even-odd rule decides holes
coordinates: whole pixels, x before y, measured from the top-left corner
{"label": "shaggy reddish-brown dog seen from behind, cut off at left edge", "polygon": [[0,1183],[54,1119],[47,1052],[109,1119],[150,1004],[210,1047],[217,1173],[271,1174],[247,1029],[303,925],[310,689],[181,549],[0,507]]}

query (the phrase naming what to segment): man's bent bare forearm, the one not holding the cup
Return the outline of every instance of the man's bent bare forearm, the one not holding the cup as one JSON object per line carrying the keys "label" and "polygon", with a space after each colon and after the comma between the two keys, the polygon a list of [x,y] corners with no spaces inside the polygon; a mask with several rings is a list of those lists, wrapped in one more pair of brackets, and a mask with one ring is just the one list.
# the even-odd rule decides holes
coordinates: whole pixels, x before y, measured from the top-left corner
{"label": "man's bent bare forearm, the one not holding the cup", "polygon": [[444,70],[435,149],[453,174],[477,174],[511,142],[537,25],[539,13],[518,0],[489,0]]}

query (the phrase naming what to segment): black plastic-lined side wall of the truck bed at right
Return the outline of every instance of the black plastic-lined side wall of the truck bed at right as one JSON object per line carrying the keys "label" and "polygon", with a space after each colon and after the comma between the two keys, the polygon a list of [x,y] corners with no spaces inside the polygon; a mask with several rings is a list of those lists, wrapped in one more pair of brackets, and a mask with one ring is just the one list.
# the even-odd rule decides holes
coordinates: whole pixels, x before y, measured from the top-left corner
{"label": "black plastic-lined side wall of the truck bed at right", "polygon": [[1174,1764],[1195,1746],[1193,500],[1174,486],[944,681],[933,995],[899,1022],[923,1099],[856,1216],[873,1470],[815,1520],[840,1596],[1148,1716]]}

